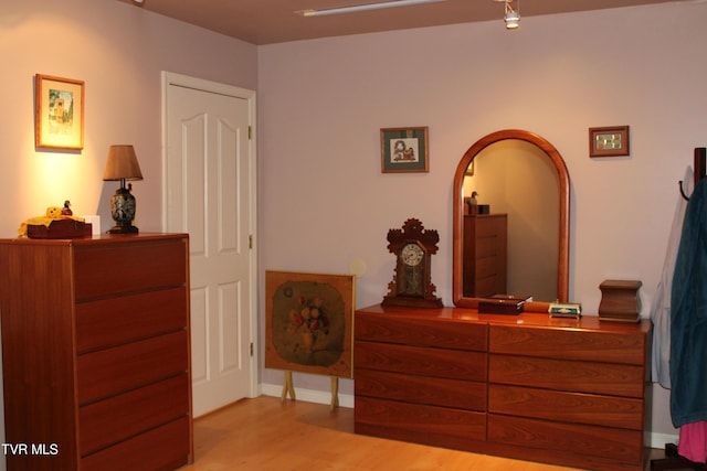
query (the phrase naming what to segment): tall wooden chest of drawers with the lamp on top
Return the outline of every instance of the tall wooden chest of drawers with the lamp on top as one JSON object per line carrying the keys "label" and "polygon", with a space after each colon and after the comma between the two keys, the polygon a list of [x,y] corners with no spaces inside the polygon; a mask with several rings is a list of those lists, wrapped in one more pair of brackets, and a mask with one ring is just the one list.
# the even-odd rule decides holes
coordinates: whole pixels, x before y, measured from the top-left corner
{"label": "tall wooden chest of drawers with the lamp on top", "polygon": [[0,240],[11,470],[193,457],[184,234]]}

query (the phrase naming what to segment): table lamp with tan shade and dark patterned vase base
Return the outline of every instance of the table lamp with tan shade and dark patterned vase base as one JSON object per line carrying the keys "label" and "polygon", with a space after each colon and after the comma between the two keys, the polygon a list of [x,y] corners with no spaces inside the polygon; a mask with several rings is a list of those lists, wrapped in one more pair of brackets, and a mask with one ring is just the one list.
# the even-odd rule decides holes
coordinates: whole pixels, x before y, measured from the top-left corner
{"label": "table lamp with tan shade and dark patterned vase base", "polygon": [[120,188],[110,196],[110,215],[116,225],[108,234],[137,234],[138,228],[133,225],[135,218],[135,196],[130,194],[133,184],[126,188],[126,180],[143,180],[140,164],[133,146],[110,146],[108,161],[103,173],[104,181],[120,181]]}

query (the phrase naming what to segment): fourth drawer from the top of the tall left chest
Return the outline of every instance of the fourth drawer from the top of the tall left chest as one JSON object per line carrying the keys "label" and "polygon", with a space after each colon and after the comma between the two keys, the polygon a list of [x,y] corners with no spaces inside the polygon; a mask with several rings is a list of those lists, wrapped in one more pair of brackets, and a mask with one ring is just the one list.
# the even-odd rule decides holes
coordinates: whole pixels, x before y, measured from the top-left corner
{"label": "fourth drawer from the top of the tall left chest", "polygon": [[151,384],[78,411],[81,456],[189,414],[187,374]]}

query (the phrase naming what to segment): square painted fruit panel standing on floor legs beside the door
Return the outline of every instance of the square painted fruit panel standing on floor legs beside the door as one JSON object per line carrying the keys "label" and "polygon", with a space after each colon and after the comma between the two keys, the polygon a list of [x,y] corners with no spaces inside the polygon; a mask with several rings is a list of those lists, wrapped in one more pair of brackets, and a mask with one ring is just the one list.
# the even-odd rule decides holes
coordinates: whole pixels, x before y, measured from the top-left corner
{"label": "square painted fruit panel standing on floor legs beside the door", "polygon": [[352,377],[355,275],[265,271],[265,367]]}

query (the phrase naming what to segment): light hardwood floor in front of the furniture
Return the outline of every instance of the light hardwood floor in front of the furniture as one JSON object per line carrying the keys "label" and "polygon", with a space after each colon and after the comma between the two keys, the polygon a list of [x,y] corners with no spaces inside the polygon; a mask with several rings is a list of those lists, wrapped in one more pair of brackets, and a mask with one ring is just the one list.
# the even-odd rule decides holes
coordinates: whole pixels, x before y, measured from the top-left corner
{"label": "light hardwood floor in front of the furniture", "polygon": [[354,433],[354,410],[261,396],[194,420],[184,471],[562,471],[553,467]]}

